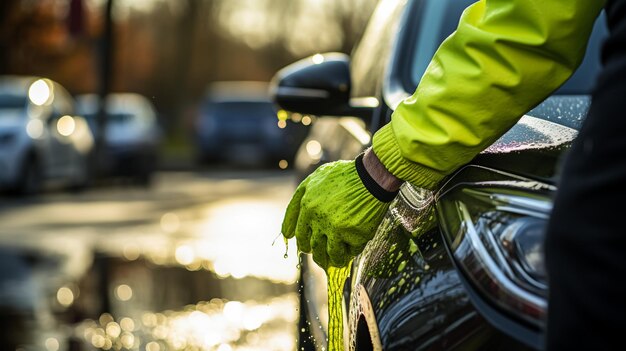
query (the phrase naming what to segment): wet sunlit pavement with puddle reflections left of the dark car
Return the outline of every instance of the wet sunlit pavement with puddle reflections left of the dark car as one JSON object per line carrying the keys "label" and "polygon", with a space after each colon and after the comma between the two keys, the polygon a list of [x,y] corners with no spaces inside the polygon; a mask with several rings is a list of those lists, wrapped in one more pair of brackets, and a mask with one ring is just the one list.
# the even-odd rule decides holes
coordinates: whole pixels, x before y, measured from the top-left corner
{"label": "wet sunlit pavement with puddle reflections left of the dark car", "polygon": [[293,188],[286,171],[167,172],[0,196],[0,349],[295,349],[295,247],[277,239]]}

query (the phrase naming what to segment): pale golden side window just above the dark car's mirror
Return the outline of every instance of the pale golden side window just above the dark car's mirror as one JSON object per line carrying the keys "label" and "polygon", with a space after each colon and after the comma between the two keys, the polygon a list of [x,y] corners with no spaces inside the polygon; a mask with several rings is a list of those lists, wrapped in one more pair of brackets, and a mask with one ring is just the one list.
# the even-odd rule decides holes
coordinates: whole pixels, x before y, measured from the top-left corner
{"label": "pale golden side window just above the dark car's mirror", "polygon": [[352,53],[352,96],[376,96],[406,0],[381,1]]}

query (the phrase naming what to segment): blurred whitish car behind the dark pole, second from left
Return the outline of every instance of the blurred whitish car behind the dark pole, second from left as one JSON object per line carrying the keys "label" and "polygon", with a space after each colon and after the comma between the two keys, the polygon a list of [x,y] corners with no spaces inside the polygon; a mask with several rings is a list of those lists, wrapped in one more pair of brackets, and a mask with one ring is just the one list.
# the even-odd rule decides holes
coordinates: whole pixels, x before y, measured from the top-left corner
{"label": "blurred whitish car behind the dark pole, second from left", "polygon": [[[78,110],[98,137],[100,98],[76,96]],[[104,176],[130,177],[147,185],[157,168],[162,131],[152,103],[135,93],[112,93],[106,101],[106,132],[98,167]]]}

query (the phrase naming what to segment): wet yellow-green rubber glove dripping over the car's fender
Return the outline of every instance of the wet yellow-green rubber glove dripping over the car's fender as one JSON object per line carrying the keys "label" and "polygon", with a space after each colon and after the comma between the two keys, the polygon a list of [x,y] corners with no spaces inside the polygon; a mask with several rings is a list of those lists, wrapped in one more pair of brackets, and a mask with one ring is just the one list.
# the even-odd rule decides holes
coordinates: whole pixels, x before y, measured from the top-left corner
{"label": "wet yellow-green rubber glove dripping over the car's fender", "polygon": [[320,166],[296,189],[282,233],[296,237],[298,250],[312,253],[322,268],[343,267],[374,236],[397,192],[369,176],[362,155]]}

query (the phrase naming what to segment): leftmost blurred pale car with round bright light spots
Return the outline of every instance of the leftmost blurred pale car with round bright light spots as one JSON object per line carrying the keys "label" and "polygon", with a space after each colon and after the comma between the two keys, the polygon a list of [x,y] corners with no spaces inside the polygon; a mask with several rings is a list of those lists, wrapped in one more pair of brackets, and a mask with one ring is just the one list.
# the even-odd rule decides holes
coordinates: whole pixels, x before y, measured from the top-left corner
{"label": "leftmost blurred pale car with round bright light spots", "polygon": [[0,187],[34,194],[46,183],[89,181],[93,135],[75,101],[46,78],[0,77]]}

